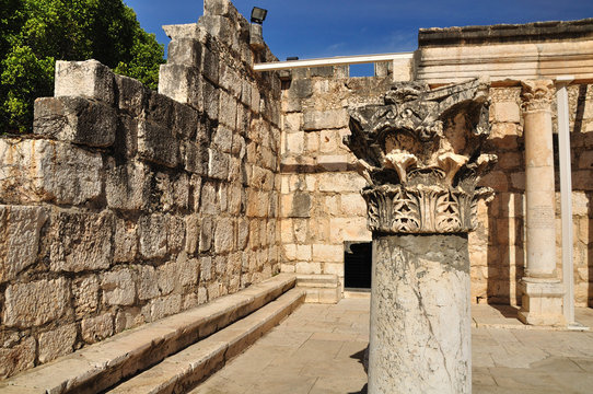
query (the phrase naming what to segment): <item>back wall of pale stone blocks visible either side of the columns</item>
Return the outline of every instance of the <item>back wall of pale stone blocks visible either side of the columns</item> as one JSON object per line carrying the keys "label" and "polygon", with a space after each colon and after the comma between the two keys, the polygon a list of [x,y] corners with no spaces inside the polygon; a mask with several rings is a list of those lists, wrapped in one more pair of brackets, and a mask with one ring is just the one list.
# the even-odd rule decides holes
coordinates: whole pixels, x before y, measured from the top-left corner
{"label": "back wall of pale stone blocks visible either side of the columns", "polygon": [[[292,71],[292,82],[282,95],[283,271],[337,274],[342,278],[344,242],[371,240],[359,193],[364,179],[356,173],[354,158],[341,140],[349,134],[346,107],[376,103],[389,83],[391,77],[349,79],[341,68]],[[516,287],[525,264],[525,163],[520,93],[520,86],[490,89],[492,132],[486,147],[499,162],[480,185],[495,188],[497,195],[488,206],[479,204],[479,225],[469,234],[473,302],[521,302]],[[575,304],[585,306],[593,303],[593,86],[570,86],[569,97]],[[561,274],[559,192],[557,195],[556,243]]]}

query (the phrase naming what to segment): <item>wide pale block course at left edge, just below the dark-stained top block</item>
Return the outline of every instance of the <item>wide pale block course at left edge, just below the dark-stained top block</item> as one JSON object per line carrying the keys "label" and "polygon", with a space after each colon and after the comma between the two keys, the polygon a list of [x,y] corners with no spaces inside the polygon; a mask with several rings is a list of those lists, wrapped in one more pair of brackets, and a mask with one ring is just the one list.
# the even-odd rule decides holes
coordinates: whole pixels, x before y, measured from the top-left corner
{"label": "wide pale block course at left edge, just below the dark-stained top block", "polygon": [[80,205],[101,195],[103,159],[69,143],[0,139],[0,198]]}

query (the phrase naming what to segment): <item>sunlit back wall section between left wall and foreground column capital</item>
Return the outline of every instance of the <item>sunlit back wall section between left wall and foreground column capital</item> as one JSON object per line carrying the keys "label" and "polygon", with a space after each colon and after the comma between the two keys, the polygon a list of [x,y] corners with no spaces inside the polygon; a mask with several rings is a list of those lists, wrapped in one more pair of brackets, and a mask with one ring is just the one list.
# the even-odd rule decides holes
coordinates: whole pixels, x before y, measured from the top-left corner
{"label": "sunlit back wall section between left wall and foreground column capital", "polygon": [[344,286],[344,242],[372,240],[365,181],[342,143],[347,108],[379,103],[391,77],[349,78],[345,67],[292,70],[282,91],[282,271],[333,274]]}

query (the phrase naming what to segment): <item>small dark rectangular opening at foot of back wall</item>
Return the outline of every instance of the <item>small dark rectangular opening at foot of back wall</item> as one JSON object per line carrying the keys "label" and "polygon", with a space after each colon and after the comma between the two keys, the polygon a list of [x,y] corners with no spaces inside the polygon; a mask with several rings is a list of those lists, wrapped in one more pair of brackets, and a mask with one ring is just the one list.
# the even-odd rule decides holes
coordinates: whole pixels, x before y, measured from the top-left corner
{"label": "small dark rectangular opening at foot of back wall", "polygon": [[371,289],[371,242],[344,243],[344,288],[368,291]]}

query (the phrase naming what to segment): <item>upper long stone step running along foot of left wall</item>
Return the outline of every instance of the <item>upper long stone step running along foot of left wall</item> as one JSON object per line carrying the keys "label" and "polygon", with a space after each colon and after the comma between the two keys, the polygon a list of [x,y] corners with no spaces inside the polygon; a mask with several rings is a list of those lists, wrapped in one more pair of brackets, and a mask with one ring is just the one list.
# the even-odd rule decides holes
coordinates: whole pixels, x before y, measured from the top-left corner
{"label": "upper long stone step running along foot of left wall", "polygon": [[237,293],[117,334],[0,382],[5,394],[98,393],[257,311],[295,285],[280,274]]}

